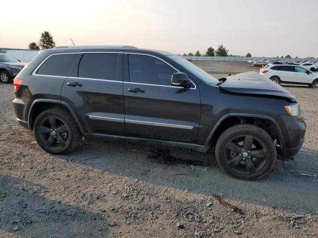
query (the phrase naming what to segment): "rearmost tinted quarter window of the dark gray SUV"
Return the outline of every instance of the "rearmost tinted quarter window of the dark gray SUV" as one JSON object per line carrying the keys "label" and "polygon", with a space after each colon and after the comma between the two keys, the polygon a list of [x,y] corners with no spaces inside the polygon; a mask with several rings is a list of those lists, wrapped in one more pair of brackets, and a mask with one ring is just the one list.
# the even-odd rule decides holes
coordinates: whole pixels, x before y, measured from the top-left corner
{"label": "rearmost tinted quarter window of the dark gray SUV", "polygon": [[67,77],[77,57],[78,54],[53,55],[44,61],[36,74]]}

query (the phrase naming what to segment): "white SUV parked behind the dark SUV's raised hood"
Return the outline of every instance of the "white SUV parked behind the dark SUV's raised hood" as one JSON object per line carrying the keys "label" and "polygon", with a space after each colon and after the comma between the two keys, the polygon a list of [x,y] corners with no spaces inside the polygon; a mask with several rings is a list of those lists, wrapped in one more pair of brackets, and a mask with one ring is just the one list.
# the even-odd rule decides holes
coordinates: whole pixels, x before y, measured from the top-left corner
{"label": "white SUV parked behind the dark SUV's raised hood", "polygon": [[299,65],[269,64],[259,71],[275,83],[307,84],[318,89],[318,73]]}

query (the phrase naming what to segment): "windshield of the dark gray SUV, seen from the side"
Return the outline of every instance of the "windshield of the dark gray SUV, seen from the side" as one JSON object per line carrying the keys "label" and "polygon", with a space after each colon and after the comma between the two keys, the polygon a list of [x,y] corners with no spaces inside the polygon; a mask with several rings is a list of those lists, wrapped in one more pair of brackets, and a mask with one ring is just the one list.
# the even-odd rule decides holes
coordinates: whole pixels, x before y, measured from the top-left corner
{"label": "windshield of the dark gray SUV, seen from the side", "polygon": [[198,77],[202,81],[216,85],[219,83],[219,80],[217,80],[215,77],[211,76],[207,72],[203,71],[201,68],[196,66],[195,64],[191,63],[189,60],[186,60],[180,56],[167,56],[174,62],[178,63],[181,65],[183,68],[186,68],[191,74],[194,76]]}

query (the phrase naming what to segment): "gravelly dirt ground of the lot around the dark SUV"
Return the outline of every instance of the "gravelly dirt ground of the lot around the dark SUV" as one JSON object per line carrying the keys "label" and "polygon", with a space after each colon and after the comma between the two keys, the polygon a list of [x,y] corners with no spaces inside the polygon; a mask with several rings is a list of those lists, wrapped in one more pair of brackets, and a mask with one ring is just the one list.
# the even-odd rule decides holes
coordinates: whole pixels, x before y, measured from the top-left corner
{"label": "gravelly dirt ground of the lot around the dark SUV", "polygon": [[[194,62],[216,78],[259,68]],[[318,237],[318,91],[283,85],[308,125],[295,161],[266,178],[223,174],[213,153],[82,141],[53,156],[17,124],[0,84],[0,238]]]}

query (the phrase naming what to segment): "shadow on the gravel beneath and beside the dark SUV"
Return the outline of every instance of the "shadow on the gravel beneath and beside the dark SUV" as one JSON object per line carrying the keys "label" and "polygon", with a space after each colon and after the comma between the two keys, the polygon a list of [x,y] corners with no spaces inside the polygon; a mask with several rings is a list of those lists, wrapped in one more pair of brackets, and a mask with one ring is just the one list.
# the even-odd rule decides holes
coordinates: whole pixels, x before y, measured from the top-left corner
{"label": "shadow on the gravel beneath and beside the dark SUV", "polygon": [[272,173],[254,181],[224,174],[212,152],[203,154],[146,143],[83,141],[78,151],[57,157],[189,192],[318,214],[317,156],[317,150],[303,147],[295,161],[277,161]]}

